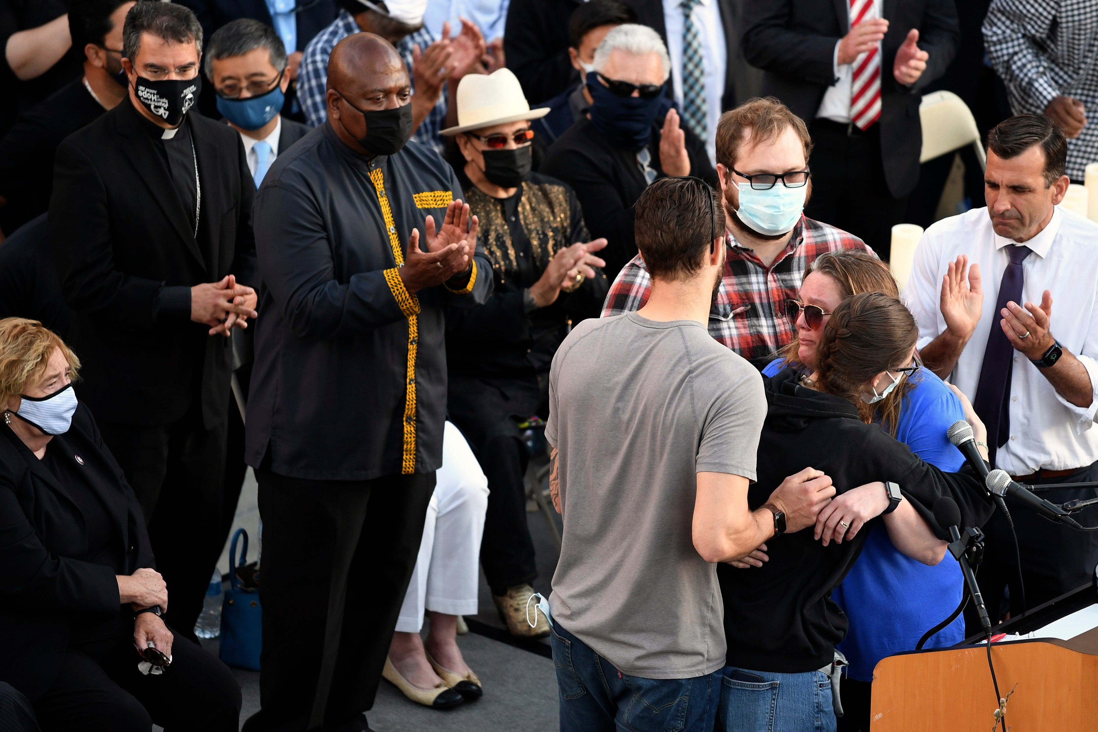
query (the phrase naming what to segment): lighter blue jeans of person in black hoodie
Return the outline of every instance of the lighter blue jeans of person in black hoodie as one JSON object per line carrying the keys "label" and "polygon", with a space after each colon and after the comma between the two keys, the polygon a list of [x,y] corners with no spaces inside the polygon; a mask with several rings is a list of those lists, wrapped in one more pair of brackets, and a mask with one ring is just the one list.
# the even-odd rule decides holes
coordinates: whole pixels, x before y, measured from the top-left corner
{"label": "lighter blue jeans of person in black hoodie", "polygon": [[720,732],[834,732],[827,674],[774,674],[736,666],[725,666],[722,673]]}

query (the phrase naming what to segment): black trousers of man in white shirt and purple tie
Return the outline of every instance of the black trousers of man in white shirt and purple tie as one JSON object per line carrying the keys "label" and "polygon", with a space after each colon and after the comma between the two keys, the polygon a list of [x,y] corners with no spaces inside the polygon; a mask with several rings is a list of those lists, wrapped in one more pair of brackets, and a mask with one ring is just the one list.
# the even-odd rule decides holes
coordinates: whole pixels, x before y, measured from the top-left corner
{"label": "black trousers of man in white shirt and purple tie", "polygon": [[[1046,486],[1090,481],[1098,481],[1098,462],[1071,475],[1035,478],[1029,484]],[[1037,495],[1062,504],[1072,498],[1098,497],[1098,489],[1061,488],[1040,491]],[[1021,604],[1018,592],[1018,564],[1010,526],[1005,516],[995,511],[984,527],[987,537],[984,562],[976,575],[993,623],[1001,620],[1008,609],[1004,597],[1007,587],[1010,588],[1009,610],[1013,617],[1090,583],[1098,564],[1098,536],[1095,536],[1098,531],[1076,531],[1042,518],[1012,498],[1006,500],[1018,533],[1026,605]],[[1083,526],[1098,526],[1098,506],[1086,508],[1074,517]],[[971,608],[965,608],[965,632],[968,635],[982,632],[978,617]]]}

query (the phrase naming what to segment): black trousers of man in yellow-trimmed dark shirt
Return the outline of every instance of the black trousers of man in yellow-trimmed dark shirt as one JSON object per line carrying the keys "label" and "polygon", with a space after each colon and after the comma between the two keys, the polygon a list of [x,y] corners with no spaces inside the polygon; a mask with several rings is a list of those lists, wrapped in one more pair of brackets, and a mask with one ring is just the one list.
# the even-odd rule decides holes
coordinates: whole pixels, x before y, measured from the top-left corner
{"label": "black trousers of man in yellow-trimmed dark shirt", "polygon": [[365,730],[435,473],[312,481],[256,471],[264,521],[259,730]]}

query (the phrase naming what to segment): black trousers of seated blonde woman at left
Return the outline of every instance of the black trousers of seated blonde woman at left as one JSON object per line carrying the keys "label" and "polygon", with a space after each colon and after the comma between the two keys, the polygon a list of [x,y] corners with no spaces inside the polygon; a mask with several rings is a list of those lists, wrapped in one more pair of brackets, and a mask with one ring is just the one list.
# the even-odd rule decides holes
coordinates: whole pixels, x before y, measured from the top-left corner
{"label": "black trousers of seated blonde woman at left", "polygon": [[[175,632],[175,631],[172,631]],[[213,654],[180,638],[159,676],[137,671],[130,638],[108,650],[69,649],[53,686],[34,700],[43,732],[236,732],[240,687]]]}

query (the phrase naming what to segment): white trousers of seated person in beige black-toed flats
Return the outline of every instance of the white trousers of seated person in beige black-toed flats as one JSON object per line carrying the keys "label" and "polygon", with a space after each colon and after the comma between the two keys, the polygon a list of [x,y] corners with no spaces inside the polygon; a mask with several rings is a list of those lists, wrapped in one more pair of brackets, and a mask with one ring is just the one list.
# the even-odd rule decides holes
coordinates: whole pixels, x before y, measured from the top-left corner
{"label": "white trousers of seated person in beige black-toed flats", "polygon": [[488,478],[458,428],[446,423],[442,466],[427,506],[419,556],[404,595],[396,631],[418,633],[424,610],[477,615],[480,541]]}

